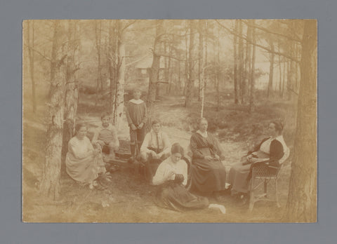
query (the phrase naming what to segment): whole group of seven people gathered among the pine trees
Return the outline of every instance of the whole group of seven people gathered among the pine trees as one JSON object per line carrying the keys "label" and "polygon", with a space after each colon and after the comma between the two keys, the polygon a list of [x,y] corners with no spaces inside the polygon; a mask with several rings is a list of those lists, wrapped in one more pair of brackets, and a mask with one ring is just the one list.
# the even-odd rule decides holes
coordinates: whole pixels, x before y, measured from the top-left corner
{"label": "whole group of seven people gathered among the pine trees", "polygon": [[[223,165],[225,152],[216,137],[207,132],[206,118],[200,118],[199,130],[190,138],[192,158],[190,184],[187,188],[189,165],[183,147],[179,143],[171,145],[168,135],[161,131],[161,124],[157,120],[152,121],[152,130],[145,135],[146,106],[145,109],[140,107],[144,104],[138,101],[138,94],[134,97],[135,100],[130,101],[133,109],[128,107],[126,113],[131,132],[131,162],[138,160],[144,163],[146,178],[151,184],[159,186],[156,201],[165,208],[207,208],[207,194],[212,194],[216,201],[223,201],[223,196],[229,189],[232,194],[244,196],[242,201],[245,201],[253,166],[264,164],[271,173],[276,172],[279,159],[287,149],[282,137],[282,124],[272,122],[268,128],[269,136],[249,151],[244,160],[235,163],[226,172]],[[136,123],[134,118],[138,120]],[[91,189],[98,185],[99,175],[106,172],[101,153],[103,147],[110,149],[108,161],[114,158],[114,152],[119,147],[117,130],[110,124],[109,114],[103,114],[101,120],[102,126],[95,130],[91,142],[86,137],[86,126],[77,124],[76,135],[69,142],[65,161],[67,174],[80,184],[88,184]],[[139,152],[136,155],[137,151]],[[192,194],[191,191],[201,196]]]}

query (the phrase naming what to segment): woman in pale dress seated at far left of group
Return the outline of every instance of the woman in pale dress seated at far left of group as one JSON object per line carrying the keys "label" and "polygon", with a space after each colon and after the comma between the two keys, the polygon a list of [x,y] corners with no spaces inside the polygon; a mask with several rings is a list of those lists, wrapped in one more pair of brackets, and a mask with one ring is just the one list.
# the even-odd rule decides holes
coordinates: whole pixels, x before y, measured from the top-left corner
{"label": "woman in pale dress seated at far left of group", "polygon": [[93,149],[88,137],[86,137],[86,126],[78,123],[75,126],[76,135],[68,143],[68,152],[65,158],[67,174],[81,185],[102,187],[95,179],[98,175],[105,173],[105,163],[100,149]]}

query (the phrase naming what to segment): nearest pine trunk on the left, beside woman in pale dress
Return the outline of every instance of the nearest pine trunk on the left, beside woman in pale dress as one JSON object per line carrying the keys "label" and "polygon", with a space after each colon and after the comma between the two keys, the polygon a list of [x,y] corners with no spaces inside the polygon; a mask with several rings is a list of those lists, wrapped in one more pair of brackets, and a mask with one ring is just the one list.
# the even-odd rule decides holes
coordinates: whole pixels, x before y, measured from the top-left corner
{"label": "nearest pine trunk on the left, beside woman in pale dress", "polygon": [[60,173],[63,115],[65,108],[65,55],[60,48],[60,22],[54,22],[51,89],[48,107],[48,126],[46,134],[46,161],[42,176],[40,191],[42,194],[56,200],[60,196]]}

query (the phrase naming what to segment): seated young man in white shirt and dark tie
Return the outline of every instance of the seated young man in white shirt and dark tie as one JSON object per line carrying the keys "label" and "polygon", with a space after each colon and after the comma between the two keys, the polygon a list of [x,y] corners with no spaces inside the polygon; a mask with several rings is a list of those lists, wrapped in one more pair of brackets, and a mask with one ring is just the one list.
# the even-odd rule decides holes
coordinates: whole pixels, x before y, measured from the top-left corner
{"label": "seated young man in white shirt and dark tie", "polygon": [[159,163],[170,156],[170,148],[169,137],[160,130],[159,121],[152,121],[152,130],[145,135],[142,147],[140,147],[140,160],[145,163],[146,175],[150,181]]}

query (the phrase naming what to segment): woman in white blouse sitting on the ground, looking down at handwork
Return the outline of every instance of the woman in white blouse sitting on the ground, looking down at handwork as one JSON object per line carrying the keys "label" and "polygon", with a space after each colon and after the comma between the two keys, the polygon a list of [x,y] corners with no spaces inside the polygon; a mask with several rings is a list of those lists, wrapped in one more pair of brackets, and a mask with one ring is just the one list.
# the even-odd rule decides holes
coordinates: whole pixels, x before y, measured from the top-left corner
{"label": "woman in white blouse sitting on the ground, looking down at handwork", "polygon": [[181,159],[183,156],[183,147],[175,143],[171,147],[171,156],[159,165],[152,179],[154,185],[160,185],[157,204],[180,211],[207,208],[207,198],[194,196],[185,189],[187,163]]}

